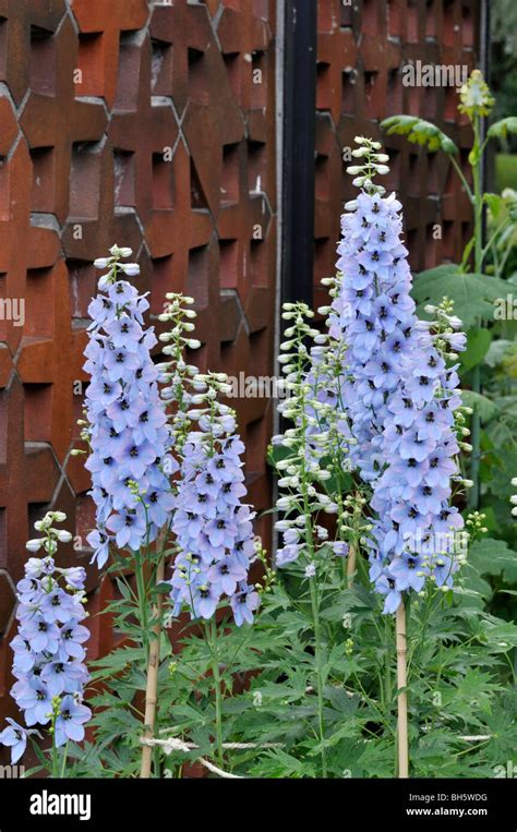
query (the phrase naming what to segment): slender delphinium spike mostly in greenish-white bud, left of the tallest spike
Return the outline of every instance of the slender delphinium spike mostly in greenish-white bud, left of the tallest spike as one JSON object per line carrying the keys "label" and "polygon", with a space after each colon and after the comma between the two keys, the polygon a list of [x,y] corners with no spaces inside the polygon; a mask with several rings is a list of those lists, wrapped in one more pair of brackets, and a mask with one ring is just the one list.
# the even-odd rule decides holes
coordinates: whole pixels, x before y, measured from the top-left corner
{"label": "slender delphinium spike mostly in greenish-white bud, left of the tallest spike", "polygon": [[[279,405],[280,414],[291,422],[281,435],[273,437],[273,446],[282,448],[287,456],[276,462],[281,496],[277,510],[282,518],[276,522],[281,544],[276,553],[276,566],[298,570],[309,582],[311,617],[314,635],[315,691],[317,698],[317,736],[323,744],[325,646],[320,619],[321,586],[332,566],[332,555],[344,557],[348,547],[338,536],[329,539],[327,529],[318,521],[320,515],[339,515],[338,505],[324,491],[333,474],[333,460],[345,466],[348,427],[341,414],[335,420],[340,397],[341,369],[336,369],[333,355],[339,348],[325,351],[326,342],[318,330],[308,323],[313,312],[304,303],[284,304],[282,318],[288,322],[286,340],[280,345],[279,363],[286,376],[288,397]],[[314,339],[312,355],[308,342]],[[340,357],[341,358],[341,357]],[[339,495],[341,501],[341,495]],[[338,517],[340,520],[341,517]],[[322,773],[326,776],[325,749],[321,750]]]}

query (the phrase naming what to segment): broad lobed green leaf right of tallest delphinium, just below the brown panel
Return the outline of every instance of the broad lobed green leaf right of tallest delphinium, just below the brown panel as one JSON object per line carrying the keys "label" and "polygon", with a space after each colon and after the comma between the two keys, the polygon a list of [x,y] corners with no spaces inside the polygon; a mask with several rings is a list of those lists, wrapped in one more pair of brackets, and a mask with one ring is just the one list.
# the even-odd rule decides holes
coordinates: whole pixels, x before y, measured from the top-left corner
{"label": "broad lobed green leaf right of tallest delphinium, just below the brown panel", "polygon": [[454,313],[466,329],[481,321],[493,321],[494,300],[505,298],[504,280],[489,275],[462,274],[453,264],[430,268],[414,278],[412,297],[419,304],[419,314],[429,318],[423,306],[437,305],[444,298],[454,301]]}

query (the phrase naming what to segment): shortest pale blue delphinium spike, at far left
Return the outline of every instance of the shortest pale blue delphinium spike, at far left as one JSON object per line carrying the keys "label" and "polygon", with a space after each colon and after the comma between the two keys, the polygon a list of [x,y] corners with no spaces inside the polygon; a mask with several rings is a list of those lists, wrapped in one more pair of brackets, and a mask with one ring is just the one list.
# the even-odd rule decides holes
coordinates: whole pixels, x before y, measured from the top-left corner
{"label": "shortest pale blue delphinium spike, at far left", "polygon": [[[62,511],[48,511],[35,523],[43,536],[27,542],[32,553],[43,550],[41,557],[29,557],[25,577],[16,587],[17,635],[11,641],[14,652],[11,694],[24,712],[26,727],[9,719],[0,741],[11,747],[11,761],[23,756],[27,738],[41,736],[39,725],[51,736],[51,775],[63,776],[67,747],[70,740],[84,738],[84,724],[92,712],[83,704],[84,686],[89,674],[84,664],[85,641],[89,631],[81,622],[86,578],[82,566],[61,568],[56,564],[58,544],[72,539],[70,532],[53,523],[62,522]],[[64,752],[58,749],[65,746]]]}

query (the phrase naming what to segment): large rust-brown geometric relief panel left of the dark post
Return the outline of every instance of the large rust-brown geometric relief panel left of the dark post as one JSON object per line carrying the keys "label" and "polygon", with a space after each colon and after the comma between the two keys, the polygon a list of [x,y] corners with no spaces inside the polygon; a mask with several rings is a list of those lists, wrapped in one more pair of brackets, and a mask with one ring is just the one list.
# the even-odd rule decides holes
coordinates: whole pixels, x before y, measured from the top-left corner
{"label": "large rust-brown geometric relief panel left of the dark post", "polygon": [[[70,451],[94,258],[133,249],[158,331],[165,292],[194,296],[202,369],[273,372],[273,0],[0,0],[0,298],[25,301],[23,326],[0,319],[0,714],[34,521],[67,511],[77,551],[61,557],[88,560],[89,479]],[[235,403],[264,509],[273,402]],[[113,592],[96,568],[88,589],[92,612]],[[95,658],[115,636],[89,622]]]}

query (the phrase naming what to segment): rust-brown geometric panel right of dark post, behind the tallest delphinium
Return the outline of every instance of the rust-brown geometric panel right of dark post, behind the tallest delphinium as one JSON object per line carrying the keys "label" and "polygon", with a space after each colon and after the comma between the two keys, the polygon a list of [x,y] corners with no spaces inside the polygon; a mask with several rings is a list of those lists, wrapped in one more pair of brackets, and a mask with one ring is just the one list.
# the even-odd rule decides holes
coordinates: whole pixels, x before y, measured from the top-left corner
{"label": "rust-brown geometric panel right of dark post, behind the tallest delphinium", "polygon": [[[344,147],[363,134],[383,142],[390,174],[404,205],[406,242],[414,272],[458,260],[470,236],[470,206],[446,157],[428,154],[402,136],[378,126],[397,113],[420,116],[437,124],[460,147],[467,162],[471,142],[465,117],[457,111],[454,87],[410,87],[400,69],[422,64],[476,67],[479,0],[318,0],[315,184],[315,299],[322,277],[335,272],[339,213],[356,189],[345,173]],[[443,239],[433,240],[441,224]]]}

